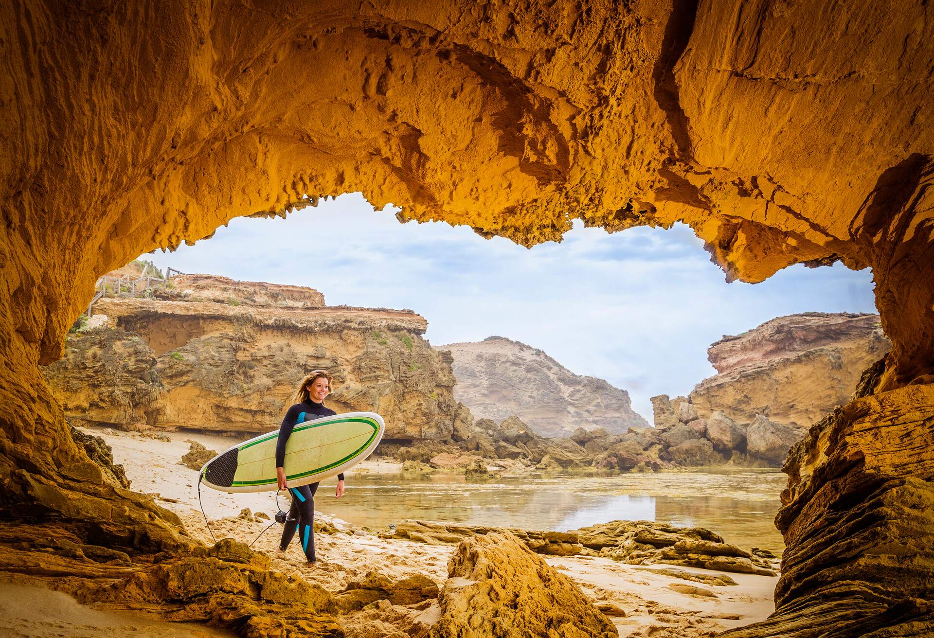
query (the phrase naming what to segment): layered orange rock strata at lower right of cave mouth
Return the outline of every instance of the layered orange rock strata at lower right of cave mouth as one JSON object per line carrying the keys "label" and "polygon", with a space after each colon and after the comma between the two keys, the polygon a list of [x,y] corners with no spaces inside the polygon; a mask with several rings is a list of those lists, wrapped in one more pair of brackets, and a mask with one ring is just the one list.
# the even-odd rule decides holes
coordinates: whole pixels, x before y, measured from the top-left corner
{"label": "layered orange rock strata at lower right of cave mouth", "polygon": [[880,363],[788,454],[775,613],[724,636],[788,627],[802,637],[922,636],[934,627],[934,385],[878,391]]}

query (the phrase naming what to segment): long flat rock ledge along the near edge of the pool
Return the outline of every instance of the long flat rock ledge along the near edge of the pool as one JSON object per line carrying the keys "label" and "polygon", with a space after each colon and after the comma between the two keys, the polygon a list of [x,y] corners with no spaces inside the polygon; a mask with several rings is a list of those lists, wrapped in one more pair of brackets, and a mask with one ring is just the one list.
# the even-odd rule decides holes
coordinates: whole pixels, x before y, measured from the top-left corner
{"label": "long flat rock ledge along the near edge of the pool", "polygon": [[536,554],[602,556],[634,565],[667,563],[736,574],[777,575],[779,560],[765,549],[725,543],[703,528],[679,528],[647,520],[614,520],[572,532],[540,532],[462,525],[432,520],[403,520],[384,538],[448,545],[491,533],[509,533]]}

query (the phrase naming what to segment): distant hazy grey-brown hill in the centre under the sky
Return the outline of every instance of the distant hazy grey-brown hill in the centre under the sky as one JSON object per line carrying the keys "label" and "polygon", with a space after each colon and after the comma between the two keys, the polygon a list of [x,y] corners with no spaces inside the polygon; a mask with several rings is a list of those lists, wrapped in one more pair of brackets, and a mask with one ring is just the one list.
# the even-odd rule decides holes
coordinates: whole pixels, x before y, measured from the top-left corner
{"label": "distant hazy grey-brown hill in the centre under the sky", "polygon": [[577,428],[623,433],[648,425],[632,411],[626,390],[575,375],[538,348],[491,336],[438,349],[454,357],[454,397],[475,417],[515,415],[544,436],[568,436]]}

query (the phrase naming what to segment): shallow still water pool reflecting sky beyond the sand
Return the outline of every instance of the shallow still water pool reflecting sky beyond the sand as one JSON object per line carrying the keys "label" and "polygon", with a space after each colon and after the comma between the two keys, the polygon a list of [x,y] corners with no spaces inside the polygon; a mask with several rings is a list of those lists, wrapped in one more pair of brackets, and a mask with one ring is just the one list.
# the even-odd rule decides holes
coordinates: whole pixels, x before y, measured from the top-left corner
{"label": "shallow still water pool reflecting sky beyond the sand", "polygon": [[423,518],[538,530],[608,520],[706,527],[729,543],[781,550],[772,522],[785,475],[776,470],[601,477],[570,475],[467,482],[460,476],[351,474],[339,502],[322,489],[318,509],[355,525]]}

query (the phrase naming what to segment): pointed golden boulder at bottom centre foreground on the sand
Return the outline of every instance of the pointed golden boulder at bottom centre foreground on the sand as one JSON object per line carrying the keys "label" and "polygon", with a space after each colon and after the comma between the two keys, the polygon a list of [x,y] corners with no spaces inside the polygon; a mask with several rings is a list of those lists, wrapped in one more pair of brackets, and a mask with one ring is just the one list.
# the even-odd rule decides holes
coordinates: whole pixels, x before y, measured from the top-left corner
{"label": "pointed golden boulder at bottom centre foreground on the sand", "polygon": [[508,532],[460,543],[447,565],[442,615],[431,638],[616,638],[608,617],[567,576]]}

